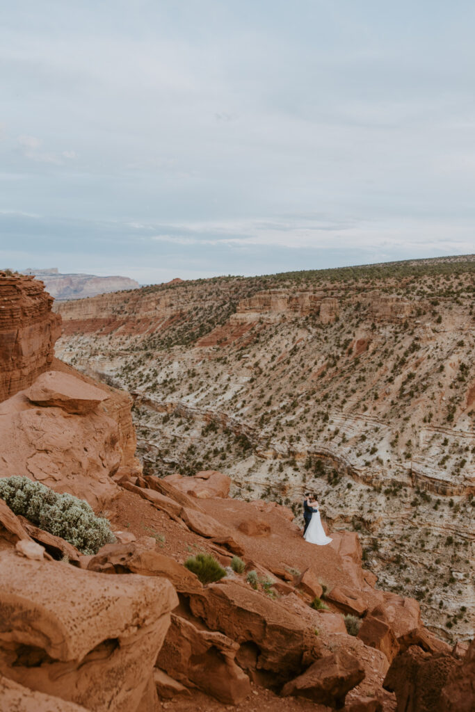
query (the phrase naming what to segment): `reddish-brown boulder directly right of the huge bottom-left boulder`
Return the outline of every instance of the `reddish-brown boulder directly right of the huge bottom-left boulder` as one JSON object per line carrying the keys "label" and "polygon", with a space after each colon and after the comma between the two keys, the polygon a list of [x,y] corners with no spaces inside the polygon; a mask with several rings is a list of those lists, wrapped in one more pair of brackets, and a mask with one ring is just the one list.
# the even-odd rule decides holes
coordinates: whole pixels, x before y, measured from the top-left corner
{"label": "reddish-brown boulder directly right of the huge bottom-left boulder", "polygon": [[217,700],[237,704],[251,691],[249,677],[236,665],[239,645],[219,632],[199,630],[172,614],[157,666],[174,679]]}

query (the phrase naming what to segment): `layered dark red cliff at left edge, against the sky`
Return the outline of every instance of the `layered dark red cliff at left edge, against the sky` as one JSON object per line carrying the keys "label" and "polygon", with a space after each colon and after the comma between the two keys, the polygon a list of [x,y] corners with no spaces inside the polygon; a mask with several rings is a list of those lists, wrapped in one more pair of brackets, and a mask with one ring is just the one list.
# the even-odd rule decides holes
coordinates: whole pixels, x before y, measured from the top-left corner
{"label": "layered dark red cliff at left edge, against the sky", "polygon": [[0,272],[0,402],[51,366],[61,333],[52,305],[41,282]]}

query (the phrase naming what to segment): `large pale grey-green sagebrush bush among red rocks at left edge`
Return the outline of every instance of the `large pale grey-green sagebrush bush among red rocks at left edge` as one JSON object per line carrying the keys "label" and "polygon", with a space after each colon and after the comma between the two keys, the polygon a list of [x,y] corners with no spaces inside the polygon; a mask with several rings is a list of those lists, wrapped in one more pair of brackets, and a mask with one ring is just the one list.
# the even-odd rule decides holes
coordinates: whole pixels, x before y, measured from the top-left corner
{"label": "large pale grey-green sagebrush bush among red rocks at left edge", "polygon": [[87,502],[28,477],[0,478],[0,498],[15,514],[61,536],[83,554],[95,554],[104,544],[115,541],[108,520],[97,517]]}

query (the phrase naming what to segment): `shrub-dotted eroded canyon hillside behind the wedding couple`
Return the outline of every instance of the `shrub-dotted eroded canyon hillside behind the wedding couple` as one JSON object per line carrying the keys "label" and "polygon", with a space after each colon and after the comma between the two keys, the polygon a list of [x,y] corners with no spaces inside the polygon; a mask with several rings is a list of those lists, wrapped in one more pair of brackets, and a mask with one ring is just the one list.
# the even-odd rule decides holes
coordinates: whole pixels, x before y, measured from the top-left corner
{"label": "shrub-dotted eroded canyon hillside behind the wedding couple", "polygon": [[475,258],[216,278],[58,305],[57,352],[135,396],[147,471],[353,528],[379,584],[474,636]]}

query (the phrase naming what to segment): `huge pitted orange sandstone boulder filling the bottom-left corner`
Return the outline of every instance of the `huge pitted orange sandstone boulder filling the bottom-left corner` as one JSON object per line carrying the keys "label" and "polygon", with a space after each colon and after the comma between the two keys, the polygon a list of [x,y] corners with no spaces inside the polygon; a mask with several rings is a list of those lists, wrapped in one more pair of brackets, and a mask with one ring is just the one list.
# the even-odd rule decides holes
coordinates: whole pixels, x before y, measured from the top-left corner
{"label": "huge pitted orange sandstone boulder filling the bottom-left corner", "polygon": [[11,550],[0,551],[0,580],[2,674],[91,710],[152,710],[153,664],[178,602],[168,581],[102,576]]}

